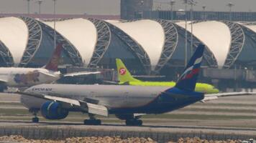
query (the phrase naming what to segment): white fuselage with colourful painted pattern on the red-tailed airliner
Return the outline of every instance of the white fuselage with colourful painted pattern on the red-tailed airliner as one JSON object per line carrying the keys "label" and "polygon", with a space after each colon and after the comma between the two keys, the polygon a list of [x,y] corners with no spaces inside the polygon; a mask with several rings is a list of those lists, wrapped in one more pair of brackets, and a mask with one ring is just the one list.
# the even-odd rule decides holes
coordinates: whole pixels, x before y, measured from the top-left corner
{"label": "white fuselage with colourful painted pattern on the red-tailed airliner", "polygon": [[59,72],[48,71],[47,69],[0,68],[0,80],[6,81],[7,87],[30,87],[36,84],[50,83],[59,78]]}

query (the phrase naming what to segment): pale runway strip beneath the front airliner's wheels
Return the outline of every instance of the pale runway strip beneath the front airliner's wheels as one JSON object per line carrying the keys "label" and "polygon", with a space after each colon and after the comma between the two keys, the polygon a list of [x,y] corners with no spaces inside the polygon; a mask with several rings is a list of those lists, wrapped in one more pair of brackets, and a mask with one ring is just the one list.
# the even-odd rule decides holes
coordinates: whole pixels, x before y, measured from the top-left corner
{"label": "pale runway strip beneath the front airliner's wheels", "polygon": [[255,135],[255,128],[242,127],[206,127],[206,126],[171,126],[171,125],[156,125],[144,124],[142,127],[127,127],[124,124],[105,123],[100,126],[83,125],[79,122],[24,122],[24,121],[0,121],[0,127],[37,127],[48,129],[93,129],[102,131],[126,131],[126,132],[204,132],[204,133],[218,133],[218,134],[244,134]]}

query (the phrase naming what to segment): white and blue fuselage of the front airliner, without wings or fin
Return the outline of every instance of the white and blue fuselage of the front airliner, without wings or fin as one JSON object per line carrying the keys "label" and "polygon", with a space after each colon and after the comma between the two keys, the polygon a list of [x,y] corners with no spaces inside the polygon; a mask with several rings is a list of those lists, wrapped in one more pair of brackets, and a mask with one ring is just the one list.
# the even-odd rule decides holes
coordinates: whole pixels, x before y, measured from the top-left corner
{"label": "white and blue fuselage of the front airliner, without wings or fin", "polygon": [[[167,90],[172,91],[166,92]],[[110,114],[160,114],[204,99],[204,94],[184,92],[177,88],[125,85],[40,84],[25,92],[93,102],[106,106]],[[40,109],[47,102],[45,99],[25,95],[22,95],[21,101],[29,109]]]}

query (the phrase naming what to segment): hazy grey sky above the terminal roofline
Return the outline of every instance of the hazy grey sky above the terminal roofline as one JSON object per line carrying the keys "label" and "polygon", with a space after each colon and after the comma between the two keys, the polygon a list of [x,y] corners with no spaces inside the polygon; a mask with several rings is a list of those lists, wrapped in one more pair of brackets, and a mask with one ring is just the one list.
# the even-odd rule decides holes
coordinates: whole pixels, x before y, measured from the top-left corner
{"label": "hazy grey sky above the terminal roofline", "polygon": [[[38,11],[37,0],[31,0],[31,13]],[[129,1],[129,0],[127,0]],[[155,0],[155,5],[160,6]],[[196,0],[196,10],[206,5],[206,10],[228,11],[227,4],[234,4],[234,11],[256,11],[256,0]],[[57,0],[58,14],[119,14],[120,0]],[[169,9],[168,5],[161,4],[162,9]],[[181,0],[176,0],[175,9],[183,9]],[[51,14],[53,9],[52,0],[44,0],[42,3],[42,14]],[[1,13],[27,13],[27,0],[0,0]]]}

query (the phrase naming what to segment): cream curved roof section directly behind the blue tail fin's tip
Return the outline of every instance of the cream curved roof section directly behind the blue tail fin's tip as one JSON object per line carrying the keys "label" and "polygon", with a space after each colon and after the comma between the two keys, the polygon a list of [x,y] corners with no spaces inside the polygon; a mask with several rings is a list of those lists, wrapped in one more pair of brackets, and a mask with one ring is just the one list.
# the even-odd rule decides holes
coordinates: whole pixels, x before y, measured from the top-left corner
{"label": "cream curved roof section directly behind the blue tail fin's tip", "polygon": [[[177,24],[185,28],[185,22]],[[187,26],[188,31],[191,31],[190,22]],[[220,21],[202,21],[193,24],[193,35],[209,47],[216,57],[219,68],[222,68],[232,42],[229,27]]]}

